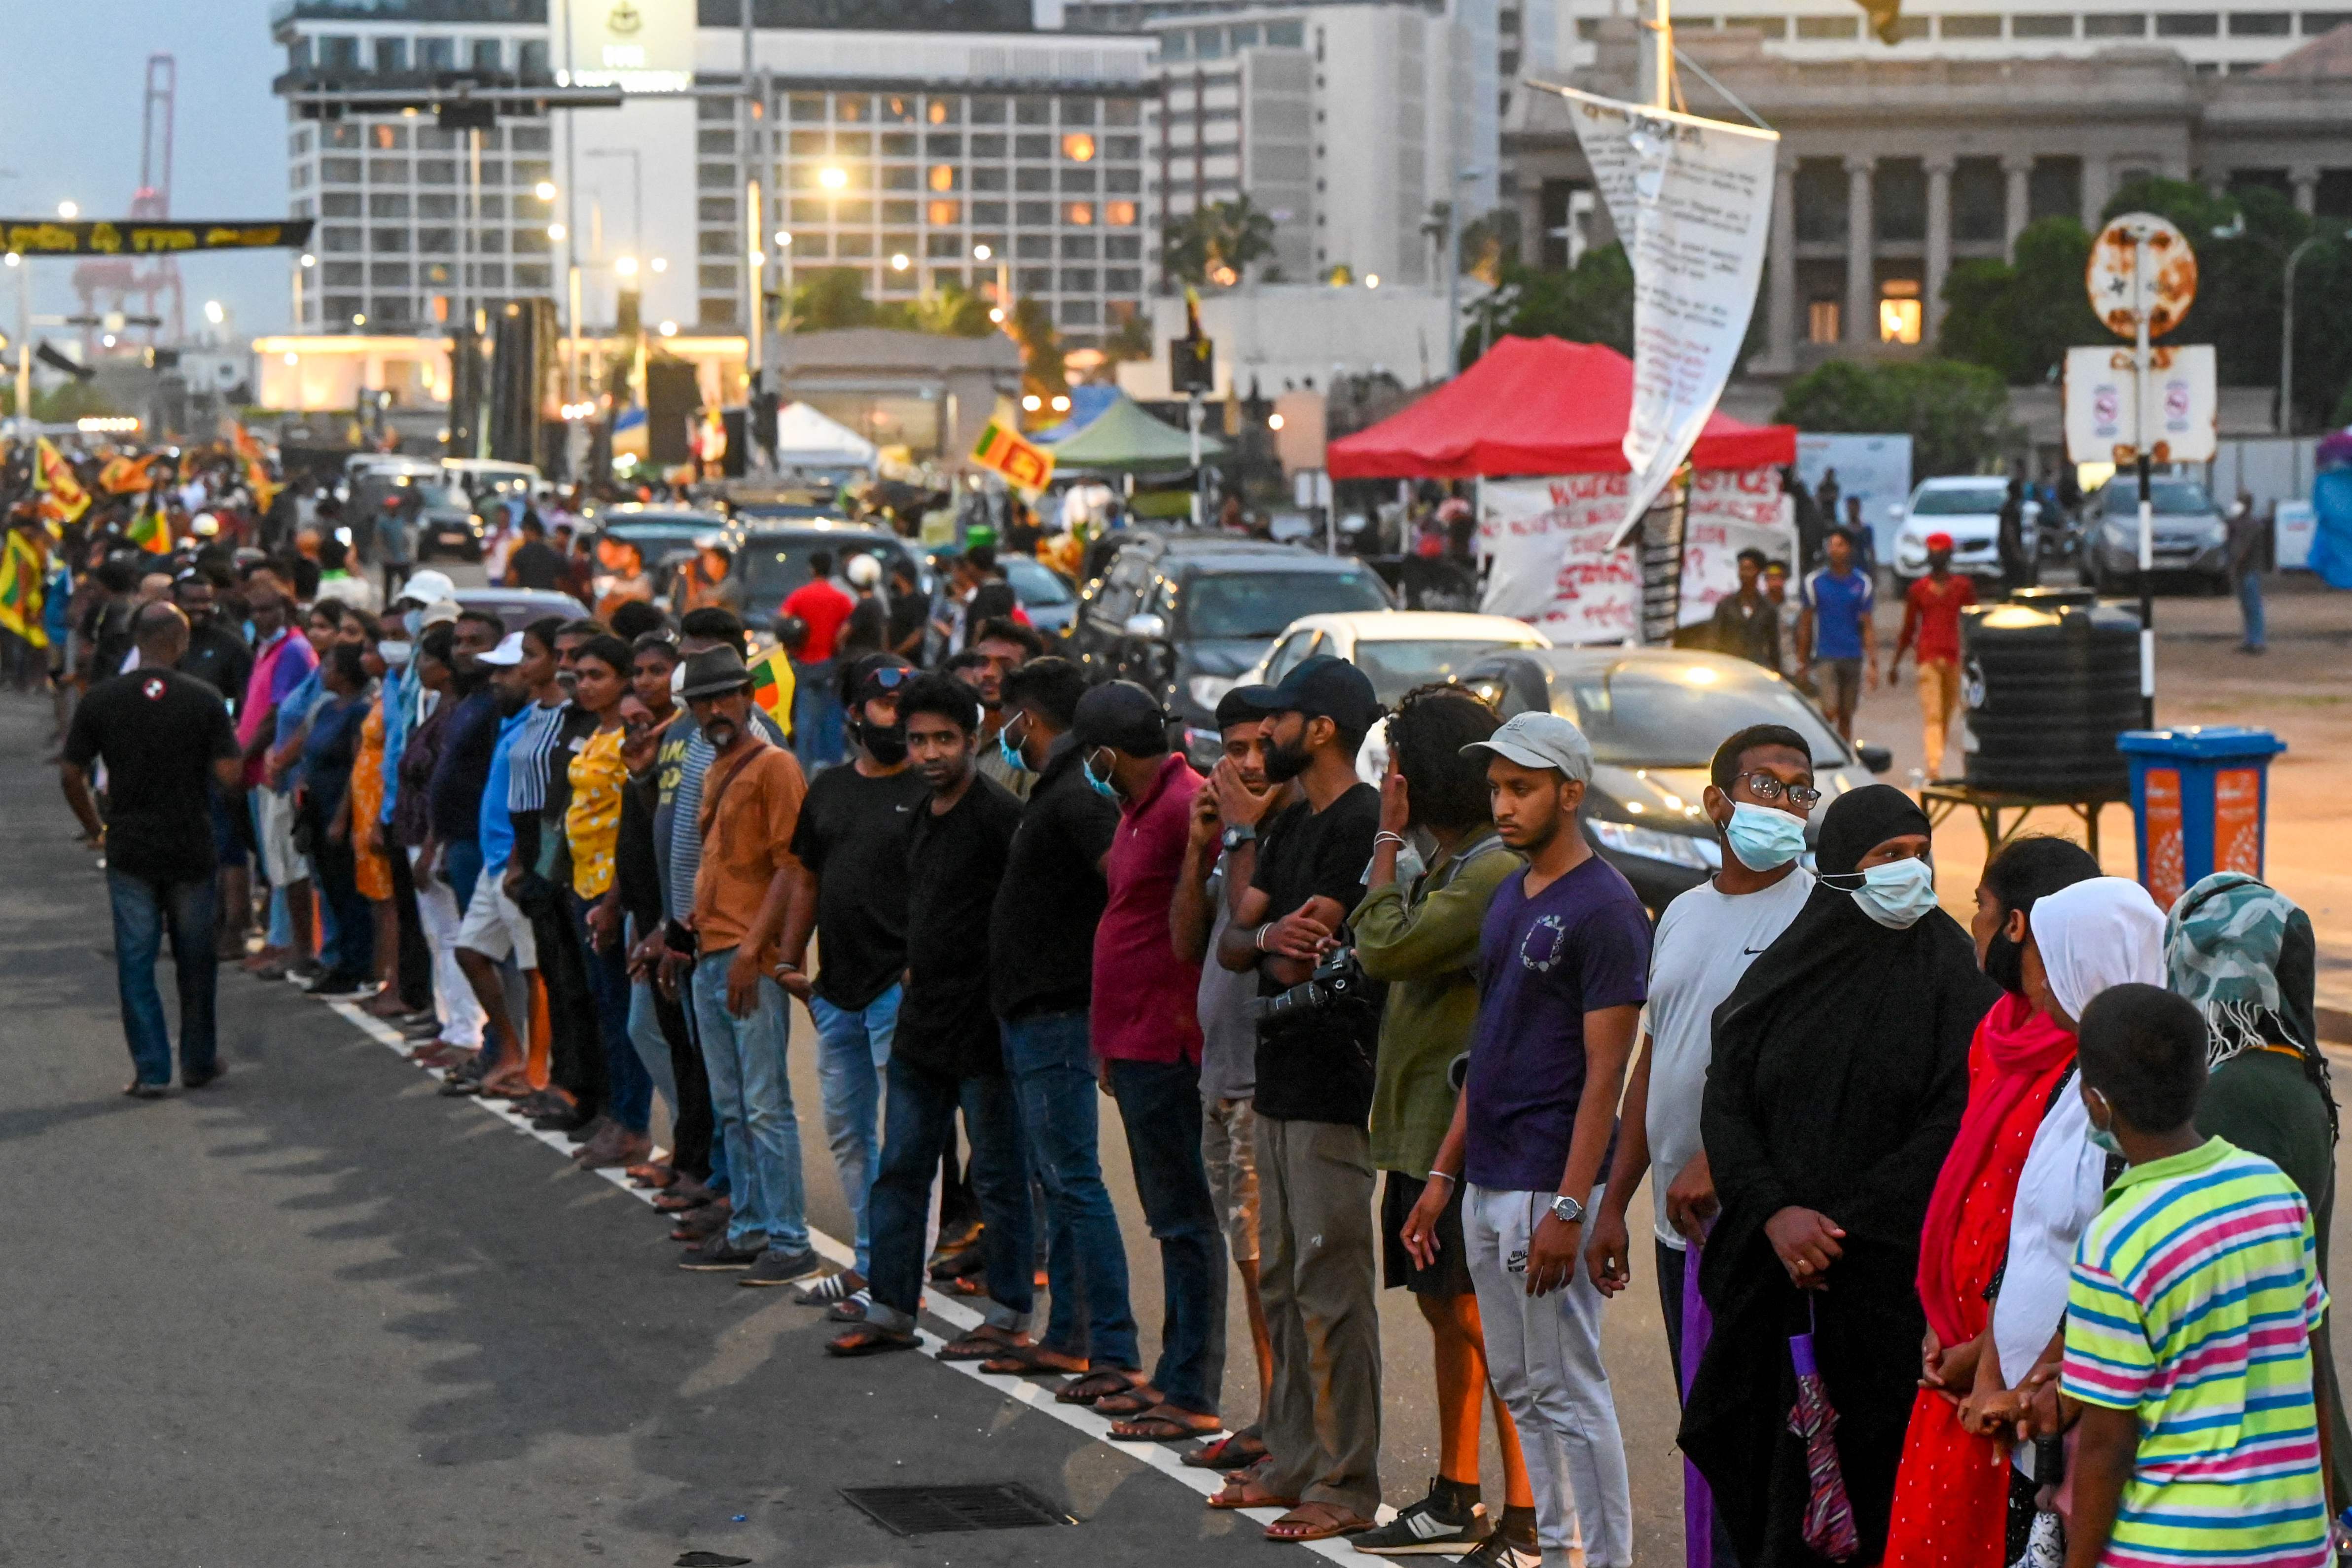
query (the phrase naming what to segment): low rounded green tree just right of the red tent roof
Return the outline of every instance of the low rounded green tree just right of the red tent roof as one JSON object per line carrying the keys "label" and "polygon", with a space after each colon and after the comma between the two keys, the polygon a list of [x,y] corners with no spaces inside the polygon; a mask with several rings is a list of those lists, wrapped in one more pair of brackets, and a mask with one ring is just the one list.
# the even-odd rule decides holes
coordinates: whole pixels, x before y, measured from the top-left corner
{"label": "low rounded green tree just right of the red tent roof", "polygon": [[1959,360],[1830,360],[1780,390],[1773,418],[1820,433],[1910,433],[1915,480],[1980,473],[2018,444],[1999,374]]}

